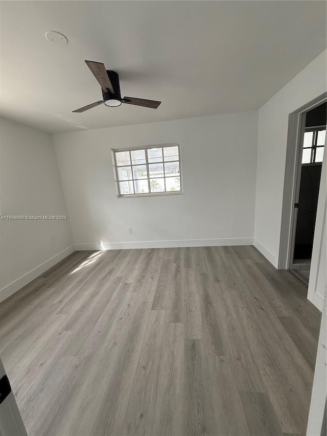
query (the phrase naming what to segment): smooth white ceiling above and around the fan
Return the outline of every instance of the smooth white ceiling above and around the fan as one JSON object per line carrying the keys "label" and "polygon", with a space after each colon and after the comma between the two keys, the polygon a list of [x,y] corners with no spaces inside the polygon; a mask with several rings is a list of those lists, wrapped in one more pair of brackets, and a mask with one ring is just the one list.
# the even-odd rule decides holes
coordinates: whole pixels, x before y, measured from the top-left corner
{"label": "smooth white ceiling above and around the fan", "polygon": [[[66,132],[257,109],[325,48],[323,1],[2,1],[2,115]],[[72,113],[102,100],[85,59],[161,105]]]}

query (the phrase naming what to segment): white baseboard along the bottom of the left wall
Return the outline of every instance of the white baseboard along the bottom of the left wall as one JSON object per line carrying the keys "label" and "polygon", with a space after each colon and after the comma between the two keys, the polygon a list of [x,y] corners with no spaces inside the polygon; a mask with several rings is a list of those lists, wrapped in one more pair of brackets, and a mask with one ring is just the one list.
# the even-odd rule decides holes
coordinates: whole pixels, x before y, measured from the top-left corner
{"label": "white baseboard along the bottom of the left wall", "polygon": [[30,283],[32,280],[36,279],[38,276],[40,276],[40,274],[43,274],[43,272],[56,265],[56,263],[60,262],[65,257],[74,253],[74,251],[74,245],[65,248],[57,255],[38,265],[36,268],[31,269],[31,271],[24,274],[24,276],[19,277],[19,279],[15,280],[12,283],[9,283],[9,285],[0,289],[0,302],[6,300],[10,295],[17,292],[19,289]]}

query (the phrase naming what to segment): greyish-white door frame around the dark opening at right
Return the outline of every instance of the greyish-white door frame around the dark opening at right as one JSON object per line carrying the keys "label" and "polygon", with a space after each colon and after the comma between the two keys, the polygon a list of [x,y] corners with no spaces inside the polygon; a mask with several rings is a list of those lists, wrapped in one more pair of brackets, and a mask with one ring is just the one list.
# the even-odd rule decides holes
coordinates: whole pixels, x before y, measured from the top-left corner
{"label": "greyish-white door frame around the dark opening at right", "polygon": [[278,269],[291,269],[293,262],[297,221],[297,209],[294,205],[298,203],[300,192],[306,114],[325,102],[327,102],[327,93],[321,94],[289,114]]}

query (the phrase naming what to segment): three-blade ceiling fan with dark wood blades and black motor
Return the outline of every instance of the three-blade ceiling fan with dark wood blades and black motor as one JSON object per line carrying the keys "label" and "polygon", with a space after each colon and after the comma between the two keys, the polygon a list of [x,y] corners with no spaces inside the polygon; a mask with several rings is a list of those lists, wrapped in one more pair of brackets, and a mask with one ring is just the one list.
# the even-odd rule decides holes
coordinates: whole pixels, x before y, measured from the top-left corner
{"label": "three-blade ceiling fan with dark wood blades and black motor", "polygon": [[79,109],[73,110],[73,112],[84,112],[102,103],[111,107],[127,103],[136,106],[151,107],[152,109],[156,109],[161,103],[161,101],[137,99],[134,97],[124,97],[122,99],[118,74],[114,71],[106,70],[104,64],[101,62],[92,62],[90,60],[86,60],[85,62],[101,85],[103,100],[80,107]]}

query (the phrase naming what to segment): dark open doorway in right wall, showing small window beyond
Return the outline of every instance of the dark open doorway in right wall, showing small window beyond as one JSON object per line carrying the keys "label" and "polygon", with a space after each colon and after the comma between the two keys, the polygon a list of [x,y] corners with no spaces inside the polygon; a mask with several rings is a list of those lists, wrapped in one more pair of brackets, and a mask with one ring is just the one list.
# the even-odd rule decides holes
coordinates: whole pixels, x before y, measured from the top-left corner
{"label": "dark open doorway in right wall, showing small window beyond", "polygon": [[306,112],[303,133],[295,240],[292,269],[309,283],[318,195],[326,136],[326,107],[323,103]]}

